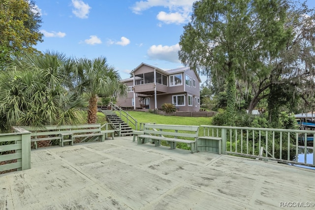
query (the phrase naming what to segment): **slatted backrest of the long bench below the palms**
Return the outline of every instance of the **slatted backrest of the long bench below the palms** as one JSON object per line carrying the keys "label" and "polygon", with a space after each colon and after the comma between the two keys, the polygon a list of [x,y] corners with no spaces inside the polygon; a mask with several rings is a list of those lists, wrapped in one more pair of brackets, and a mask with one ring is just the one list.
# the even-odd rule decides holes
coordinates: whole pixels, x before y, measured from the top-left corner
{"label": "slatted backrest of the long bench below the palms", "polygon": [[59,135],[61,133],[99,133],[100,124],[79,124],[79,125],[47,125],[44,127],[27,127],[21,126],[21,128],[31,131],[31,136],[47,136],[47,135]]}

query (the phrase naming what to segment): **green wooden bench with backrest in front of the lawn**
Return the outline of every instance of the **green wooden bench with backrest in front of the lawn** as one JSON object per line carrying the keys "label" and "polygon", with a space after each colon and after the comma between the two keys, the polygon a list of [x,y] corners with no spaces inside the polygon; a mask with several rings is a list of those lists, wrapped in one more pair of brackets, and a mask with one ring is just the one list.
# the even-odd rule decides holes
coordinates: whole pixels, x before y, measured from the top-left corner
{"label": "green wooden bench with backrest in front of the lawn", "polygon": [[145,124],[144,134],[137,135],[138,144],[154,142],[155,146],[161,145],[161,141],[170,144],[171,150],[176,148],[176,143],[185,143],[190,146],[191,153],[196,152],[196,142],[199,126],[192,125],[165,125]]}

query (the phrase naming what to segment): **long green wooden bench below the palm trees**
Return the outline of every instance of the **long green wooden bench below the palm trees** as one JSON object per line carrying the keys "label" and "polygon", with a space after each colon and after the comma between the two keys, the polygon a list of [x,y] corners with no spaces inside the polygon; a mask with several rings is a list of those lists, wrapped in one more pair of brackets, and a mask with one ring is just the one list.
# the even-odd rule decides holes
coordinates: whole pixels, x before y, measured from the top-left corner
{"label": "long green wooden bench below the palm trees", "polygon": [[114,133],[120,131],[118,129],[101,130],[107,123],[101,126],[100,124],[78,124],[78,125],[46,125],[43,127],[31,127],[21,126],[21,128],[31,131],[31,142],[34,142],[35,149],[37,149],[37,142],[39,141],[51,141],[58,140],[59,146],[63,147],[65,142],[69,142],[73,146],[75,138],[92,137],[89,141],[104,141],[107,138],[107,134],[112,134],[114,139]]}

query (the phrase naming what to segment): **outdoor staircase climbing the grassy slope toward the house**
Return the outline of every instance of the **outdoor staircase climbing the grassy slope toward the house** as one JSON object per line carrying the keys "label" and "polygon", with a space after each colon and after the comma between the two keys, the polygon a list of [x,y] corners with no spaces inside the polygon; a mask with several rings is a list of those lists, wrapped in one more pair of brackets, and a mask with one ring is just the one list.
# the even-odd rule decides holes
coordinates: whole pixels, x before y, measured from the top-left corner
{"label": "outdoor staircase climbing the grassy slope toward the house", "polygon": [[113,129],[119,129],[119,124],[121,124],[121,136],[131,136],[133,129],[115,112],[112,110],[102,110],[102,113],[106,116],[107,122],[113,123]]}

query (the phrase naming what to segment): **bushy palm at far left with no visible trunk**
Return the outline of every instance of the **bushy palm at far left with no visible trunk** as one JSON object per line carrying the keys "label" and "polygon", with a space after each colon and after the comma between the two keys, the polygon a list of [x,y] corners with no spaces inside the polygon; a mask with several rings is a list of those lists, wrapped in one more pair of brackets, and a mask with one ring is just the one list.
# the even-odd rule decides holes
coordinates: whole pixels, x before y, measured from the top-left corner
{"label": "bushy palm at far left with no visible trunk", "polygon": [[70,91],[73,61],[63,54],[14,58],[16,70],[0,73],[0,120],[11,125],[42,126],[76,123],[84,100]]}

